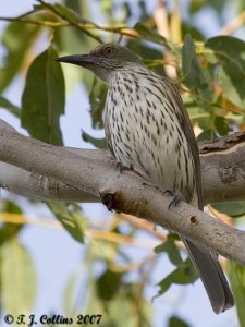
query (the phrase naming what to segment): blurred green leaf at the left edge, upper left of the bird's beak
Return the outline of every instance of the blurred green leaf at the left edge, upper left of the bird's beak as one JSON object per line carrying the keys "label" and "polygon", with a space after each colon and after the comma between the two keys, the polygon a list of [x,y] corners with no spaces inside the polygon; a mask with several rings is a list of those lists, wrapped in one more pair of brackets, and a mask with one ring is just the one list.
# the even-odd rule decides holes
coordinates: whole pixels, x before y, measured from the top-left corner
{"label": "blurred green leaf at the left edge, upper left of the bird's beak", "polygon": [[2,45],[7,56],[3,65],[0,68],[0,92],[2,92],[20,71],[26,53],[36,39],[39,32],[38,26],[10,23],[2,36]]}

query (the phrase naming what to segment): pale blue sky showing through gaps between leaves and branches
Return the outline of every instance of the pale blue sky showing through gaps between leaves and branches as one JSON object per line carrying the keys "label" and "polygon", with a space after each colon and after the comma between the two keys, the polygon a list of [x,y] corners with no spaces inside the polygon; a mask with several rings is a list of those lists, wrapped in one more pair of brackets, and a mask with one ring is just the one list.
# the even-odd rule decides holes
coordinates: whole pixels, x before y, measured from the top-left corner
{"label": "pale blue sky showing through gaps between leaves and branches", "polygon": [[[33,0],[8,0],[2,1],[0,4],[1,16],[14,16],[20,13],[26,12],[32,9],[35,2]],[[207,14],[207,13],[206,13]],[[210,16],[212,13],[208,13]],[[230,13],[229,13],[230,14]],[[228,14],[228,15],[229,15]],[[209,17],[210,17],[209,16]],[[204,17],[201,17],[204,20]],[[199,19],[196,23],[199,24]],[[208,36],[216,34],[219,29],[213,23],[215,20],[209,20],[210,28]],[[2,33],[5,23],[0,22],[0,34]],[[212,31],[212,33],[211,33]],[[41,48],[41,46],[40,46]],[[3,50],[0,48],[0,62],[3,56]],[[17,78],[11,87],[4,93],[7,98],[14,99],[16,105],[21,100],[21,92],[23,88],[23,77]],[[75,88],[66,98],[65,116],[61,119],[62,131],[64,132],[65,145],[74,147],[88,147],[87,143],[81,140],[81,122],[77,119],[77,106],[84,108],[83,129],[86,132],[91,132],[90,117],[88,113],[89,104],[85,89],[82,87]],[[19,121],[9,114],[7,111],[0,108],[0,118],[8,121],[20,132],[23,130],[19,125]],[[93,131],[95,135],[95,131]],[[98,131],[97,136],[102,136],[103,132]],[[50,217],[50,213],[45,206],[37,206],[35,214],[33,207],[28,205],[28,202],[24,198],[10,195],[13,199],[16,199],[25,207],[26,215]],[[107,209],[100,205],[83,205],[85,214],[93,217],[95,221],[99,221],[102,217],[108,217]],[[145,237],[145,235],[143,235]],[[86,245],[73,241],[73,239],[65,231],[57,231],[37,226],[27,226],[21,233],[21,242],[29,250],[35,261],[36,271],[38,274],[38,296],[34,313],[38,316],[42,314],[49,314],[56,312],[63,314],[63,299],[65,287],[71,275],[81,265],[82,257],[86,252]],[[140,250],[127,247],[127,251],[133,253],[135,258],[143,256]],[[149,251],[150,254],[150,251]],[[144,252],[145,255],[145,252]],[[160,259],[154,270],[151,278],[151,287],[147,289],[146,295],[151,299],[156,295],[156,283],[166,276],[166,271],[171,271],[171,265],[163,259]],[[172,304],[175,305],[172,305]],[[152,303],[155,310],[155,325],[154,327],[166,326],[166,322],[172,314],[179,314],[182,318],[191,323],[191,326],[198,327],[218,327],[218,326],[235,326],[236,317],[235,311],[230,310],[219,316],[215,315],[210,308],[208,298],[203,289],[200,281],[197,281],[194,286],[186,288],[171,287],[163,296],[158,298]],[[1,322],[1,320],[0,320]],[[1,324],[0,324],[1,325]],[[2,323],[1,326],[5,326]]]}

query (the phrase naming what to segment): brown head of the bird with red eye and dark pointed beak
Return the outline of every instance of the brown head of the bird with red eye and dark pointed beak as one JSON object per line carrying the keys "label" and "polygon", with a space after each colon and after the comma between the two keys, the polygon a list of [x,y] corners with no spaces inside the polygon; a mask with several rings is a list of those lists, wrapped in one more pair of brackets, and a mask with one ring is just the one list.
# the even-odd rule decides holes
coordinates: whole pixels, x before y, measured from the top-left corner
{"label": "brown head of the bird with red eye and dark pointed beak", "polygon": [[86,68],[105,82],[110,82],[110,78],[114,73],[126,66],[143,64],[134,52],[117,44],[99,45],[88,55],[60,57],[57,61]]}

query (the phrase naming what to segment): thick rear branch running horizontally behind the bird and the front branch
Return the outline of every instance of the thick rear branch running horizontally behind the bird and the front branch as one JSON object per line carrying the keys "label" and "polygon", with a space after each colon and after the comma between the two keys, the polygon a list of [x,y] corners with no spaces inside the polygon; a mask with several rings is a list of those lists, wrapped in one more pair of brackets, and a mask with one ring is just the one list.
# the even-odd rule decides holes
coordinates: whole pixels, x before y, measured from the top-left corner
{"label": "thick rear branch running horizontally behind the bird and the front branch", "polygon": [[[7,123],[0,128],[14,131]],[[107,167],[111,156],[107,150],[66,148],[89,157]],[[242,201],[245,198],[245,133],[234,133],[219,141],[199,144],[204,197],[206,203]],[[105,168],[106,169],[106,168]],[[100,198],[56,180],[19,167],[0,162],[0,184],[3,189],[25,197],[66,202],[99,202]]]}

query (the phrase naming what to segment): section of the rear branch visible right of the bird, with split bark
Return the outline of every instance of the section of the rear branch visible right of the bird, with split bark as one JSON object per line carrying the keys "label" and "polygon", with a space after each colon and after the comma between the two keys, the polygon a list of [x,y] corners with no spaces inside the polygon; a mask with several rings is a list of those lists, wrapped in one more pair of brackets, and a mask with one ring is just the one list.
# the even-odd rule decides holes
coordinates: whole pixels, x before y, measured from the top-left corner
{"label": "section of the rear branch visible right of the bird, with split bark", "polygon": [[245,199],[245,133],[199,144],[206,203]]}

